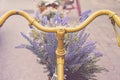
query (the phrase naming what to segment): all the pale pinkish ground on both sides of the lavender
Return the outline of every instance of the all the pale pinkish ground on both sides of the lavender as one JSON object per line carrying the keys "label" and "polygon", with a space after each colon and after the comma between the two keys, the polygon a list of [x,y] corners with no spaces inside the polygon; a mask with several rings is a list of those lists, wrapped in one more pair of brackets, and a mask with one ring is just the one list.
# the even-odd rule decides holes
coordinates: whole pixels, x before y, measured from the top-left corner
{"label": "all the pale pinkish ground on both sides of the lavender", "polygon": [[[109,9],[120,15],[120,0],[81,0],[82,11],[92,12]],[[11,9],[20,9],[33,14],[32,0],[0,0],[0,16]],[[76,18],[76,12],[70,15]],[[28,32],[28,22],[19,16],[10,17],[0,29],[0,80],[47,80],[46,74],[37,57],[26,49],[15,49],[20,43],[27,43],[20,32]],[[88,25],[90,39],[97,42],[97,48],[103,53],[99,65],[109,72],[97,74],[98,80],[120,80],[120,48],[108,16],[101,16]]]}

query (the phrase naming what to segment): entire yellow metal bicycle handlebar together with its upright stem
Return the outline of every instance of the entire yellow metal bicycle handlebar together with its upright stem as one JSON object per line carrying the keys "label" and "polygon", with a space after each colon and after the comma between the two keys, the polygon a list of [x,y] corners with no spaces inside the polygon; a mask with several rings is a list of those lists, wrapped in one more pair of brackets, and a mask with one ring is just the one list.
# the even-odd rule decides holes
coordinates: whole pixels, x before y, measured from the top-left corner
{"label": "entire yellow metal bicycle handlebar together with its upright stem", "polygon": [[[6,21],[8,17],[11,15],[21,15],[24,18],[26,18],[31,25],[34,25],[39,30],[42,30],[44,32],[54,32],[56,33],[56,36],[58,38],[58,47],[56,50],[57,55],[57,75],[58,80],[64,80],[64,56],[65,56],[65,49],[64,49],[64,35],[65,33],[70,32],[77,32],[85,28],[90,22],[92,22],[96,17],[101,15],[108,15],[114,22],[116,22],[117,26],[120,28],[120,17],[116,15],[116,13],[110,11],[110,10],[100,10],[95,13],[93,13],[87,20],[85,20],[80,26],[78,27],[43,27],[41,26],[38,21],[34,18],[31,18],[26,12],[24,11],[16,11],[11,10],[7,12],[5,15],[3,15],[0,18],[0,26],[3,25],[3,23]],[[116,29],[115,33],[117,36],[118,45],[120,46],[120,35],[118,35]]]}

